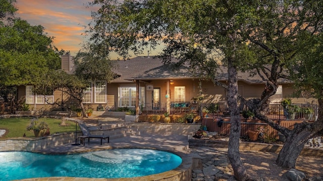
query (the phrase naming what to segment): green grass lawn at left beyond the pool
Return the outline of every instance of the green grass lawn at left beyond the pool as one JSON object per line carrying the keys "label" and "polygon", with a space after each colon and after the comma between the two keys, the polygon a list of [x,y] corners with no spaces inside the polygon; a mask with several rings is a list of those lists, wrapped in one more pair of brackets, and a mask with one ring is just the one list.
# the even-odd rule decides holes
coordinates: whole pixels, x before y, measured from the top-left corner
{"label": "green grass lawn at left beyond the pool", "polygon": [[[38,118],[39,121],[44,121],[48,124],[50,134],[54,133],[67,133],[75,132],[75,122],[66,120],[66,124],[69,126],[60,126],[62,120],[55,118]],[[26,137],[35,137],[32,130],[27,131],[27,126],[30,123],[31,118],[3,118],[0,119],[0,129],[5,129],[6,134],[2,138],[21,137],[26,134]],[[77,131],[80,128],[77,127]]]}

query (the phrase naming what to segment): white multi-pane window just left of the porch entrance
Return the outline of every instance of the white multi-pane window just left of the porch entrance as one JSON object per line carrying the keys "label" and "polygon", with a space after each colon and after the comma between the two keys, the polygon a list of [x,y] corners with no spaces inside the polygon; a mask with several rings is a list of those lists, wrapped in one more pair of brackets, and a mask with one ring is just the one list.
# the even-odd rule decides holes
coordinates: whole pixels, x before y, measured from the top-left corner
{"label": "white multi-pane window just left of the porch entrance", "polygon": [[[145,103],[145,89],[140,87],[139,100]],[[119,88],[119,107],[135,107],[136,106],[136,87],[120,87]]]}

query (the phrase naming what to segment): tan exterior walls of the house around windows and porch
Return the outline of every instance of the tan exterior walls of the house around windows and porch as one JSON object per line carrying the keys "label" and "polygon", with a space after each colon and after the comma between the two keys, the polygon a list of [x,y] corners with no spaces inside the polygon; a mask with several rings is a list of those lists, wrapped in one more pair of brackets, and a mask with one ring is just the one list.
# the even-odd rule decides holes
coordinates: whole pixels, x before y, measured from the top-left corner
{"label": "tan exterior walls of the house around windows and porch", "polygon": [[[191,99],[193,97],[199,96],[199,80],[193,79],[176,79],[173,80],[174,84],[170,84],[170,102],[175,102],[175,86],[185,86],[185,102],[193,102]],[[160,88],[160,103],[167,103],[166,93],[167,93],[167,83],[168,80],[152,80],[149,83],[140,83],[140,86],[145,87],[146,84],[152,84],[154,88]],[[101,105],[104,110],[115,111],[119,107],[119,87],[120,86],[132,86],[135,87],[135,83],[107,83],[107,95],[105,104],[87,104],[84,103],[85,109],[92,108],[94,111]],[[263,84],[249,84],[245,81],[239,81],[239,94],[246,99],[260,98],[263,91]],[[283,84],[283,98],[288,98],[294,92],[293,86],[291,84]],[[151,103],[151,92],[145,90],[145,103]],[[214,85],[211,81],[202,81],[202,103],[217,103],[219,101],[226,100],[226,91],[223,87]],[[26,95],[25,86],[18,87],[18,100],[23,99]],[[56,103],[62,102],[64,100],[65,105],[69,107],[78,107],[77,100],[71,98],[67,94],[63,94],[61,91],[56,91],[54,93],[54,100]],[[317,100],[314,98],[293,98],[293,103],[296,104],[317,104]],[[33,104],[30,105],[30,110],[43,110],[43,111],[62,111],[57,105],[44,105],[44,104]]]}

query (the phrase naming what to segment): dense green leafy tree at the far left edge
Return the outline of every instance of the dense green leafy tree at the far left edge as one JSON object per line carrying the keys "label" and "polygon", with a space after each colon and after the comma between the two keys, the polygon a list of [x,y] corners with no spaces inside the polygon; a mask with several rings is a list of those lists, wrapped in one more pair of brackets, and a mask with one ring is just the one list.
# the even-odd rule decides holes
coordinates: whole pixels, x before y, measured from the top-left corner
{"label": "dense green leafy tree at the far left edge", "polygon": [[42,26],[31,26],[15,18],[17,9],[13,3],[14,0],[0,1],[0,88],[1,96],[5,100],[11,98],[12,104],[16,86],[42,80],[47,69],[58,69],[61,65],[53,38],[47,36]]}

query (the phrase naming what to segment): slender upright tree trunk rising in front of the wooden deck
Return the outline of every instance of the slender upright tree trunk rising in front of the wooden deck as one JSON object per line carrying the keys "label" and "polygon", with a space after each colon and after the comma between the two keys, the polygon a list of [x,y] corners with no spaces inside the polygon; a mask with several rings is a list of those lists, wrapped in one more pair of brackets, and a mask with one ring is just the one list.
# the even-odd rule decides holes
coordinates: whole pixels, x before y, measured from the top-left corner
{"label": "slender upright tree trunk rising in front of the wooden deck", "polygon": [[239,151],[239,139],[241,132],[240,112],[237,104],[238,83],[237,69],[233,66],[232,61],[228,60],[229,90],[227,101],[231,116],[231,127],[229,136],[228,157],[232,165],[234,176],[237,180],[247,180],[248,174],[243,166]]}

